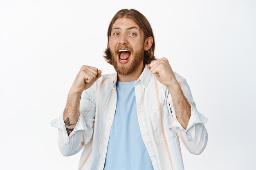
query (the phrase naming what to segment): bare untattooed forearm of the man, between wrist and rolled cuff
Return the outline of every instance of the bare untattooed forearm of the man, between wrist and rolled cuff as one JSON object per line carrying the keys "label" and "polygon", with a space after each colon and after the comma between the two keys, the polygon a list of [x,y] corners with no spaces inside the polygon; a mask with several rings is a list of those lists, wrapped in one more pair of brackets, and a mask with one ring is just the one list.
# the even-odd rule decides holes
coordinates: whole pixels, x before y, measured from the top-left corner
{"label": "bare untattooed forearm of the man, between wrist and rolled cuff", "polygon": [[177,120],[180,122],[181,126],[186,129],[191,116],[190,104],[185,98],[180,84],[176,79],[173,80],[170,86],[167,86],[167,89],[171,93],[173,108],[175,110]]}

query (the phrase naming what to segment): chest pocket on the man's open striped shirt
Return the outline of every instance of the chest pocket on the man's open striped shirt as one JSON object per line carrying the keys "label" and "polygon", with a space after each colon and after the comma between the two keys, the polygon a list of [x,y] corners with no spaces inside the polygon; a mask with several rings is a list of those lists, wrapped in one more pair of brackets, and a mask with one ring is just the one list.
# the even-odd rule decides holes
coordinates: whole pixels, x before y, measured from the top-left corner
{"label": "chest pocket on the man's open striped shirt", "polygon": [[150,113],[150,119],[157,144],[162,144],[176,136],[173,129],[169,129],[173,117],[169,111],[170,107],[163,106],[161,110]]}

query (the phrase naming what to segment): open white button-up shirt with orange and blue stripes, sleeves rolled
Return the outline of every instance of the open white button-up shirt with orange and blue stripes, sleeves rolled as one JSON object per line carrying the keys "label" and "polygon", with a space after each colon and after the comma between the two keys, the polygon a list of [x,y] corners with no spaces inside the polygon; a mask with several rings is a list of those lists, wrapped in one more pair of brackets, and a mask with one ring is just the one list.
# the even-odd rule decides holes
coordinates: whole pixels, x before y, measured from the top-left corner
{"label": "open white button-up shirt with orange and blue stripes, sleeves rolled", "polygon": [[[182,92],[191,106],[191,117],[186,130],[175,115],[171,94],[145,66],[135,82],[137,117],[154,170],[184,170],[180,139],[192,154],[200,154],[207,145],[204,127],[207,118],[196,109],[186,79],[174,72]],[[81,149],[79,170],[103,170],[110,129],[117,104],[117,73],[102,75],[90,88],[83,91],[78,122],[68,136],[63,114],[51,122],[58,128],[58,146],[64,156]]]}

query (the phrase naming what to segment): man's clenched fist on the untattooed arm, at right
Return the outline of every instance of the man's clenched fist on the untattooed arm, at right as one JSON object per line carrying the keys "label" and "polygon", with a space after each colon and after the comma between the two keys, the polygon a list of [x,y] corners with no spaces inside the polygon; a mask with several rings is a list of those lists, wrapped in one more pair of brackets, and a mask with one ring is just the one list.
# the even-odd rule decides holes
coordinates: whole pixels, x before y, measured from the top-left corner
{"label": "man's clenched fist on the untattooed arm, at right", "polygon": [[177,83],[173,70],[166,58],[153,60],[148,64],[148,69],[156,76],[157,80],[166,87]]}

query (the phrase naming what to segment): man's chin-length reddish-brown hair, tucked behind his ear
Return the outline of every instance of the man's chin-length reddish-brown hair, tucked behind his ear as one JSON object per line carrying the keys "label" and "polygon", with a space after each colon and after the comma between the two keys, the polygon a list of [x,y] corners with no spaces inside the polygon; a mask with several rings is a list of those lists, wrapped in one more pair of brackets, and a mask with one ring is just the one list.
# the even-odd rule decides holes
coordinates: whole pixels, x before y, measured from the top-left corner
{"label": "man's chin-length reddish-brown hair, tucked behind his ear", "polygon": [[[142,13],[140,13],[139,11],[137,11],[135,9],[121,9],[120,11],[118,11],[116,13],[116,15],[112,18],[112,20],[108,26],[108,41],[109,41],[109,36],[111,35],[111,30],[112,30],[113,24],[118,18],[130,18],[130,19],[134,20],[144,33],[144,42],[145,42],[146,38],[148,38],[150,36],[153,38],[153,43],[152,43],[151,48],[148,49],[147,51],[144,51],[143,64],[144,65],[150,64],[153,60],[156,60],[155,55],[154,55],[155,38],[154,38],[153,30],[152,30],[148,20],[146,19],[146,17]],[[105,53],[105,55],[103,57],[105,58],[105,60],[107,60],[107,62],[109,64],[112,65],[112,60],[111,60],[112,56],[110,53],[109,46],[107,46],[107,49],[105,49],[104,53]]]}

